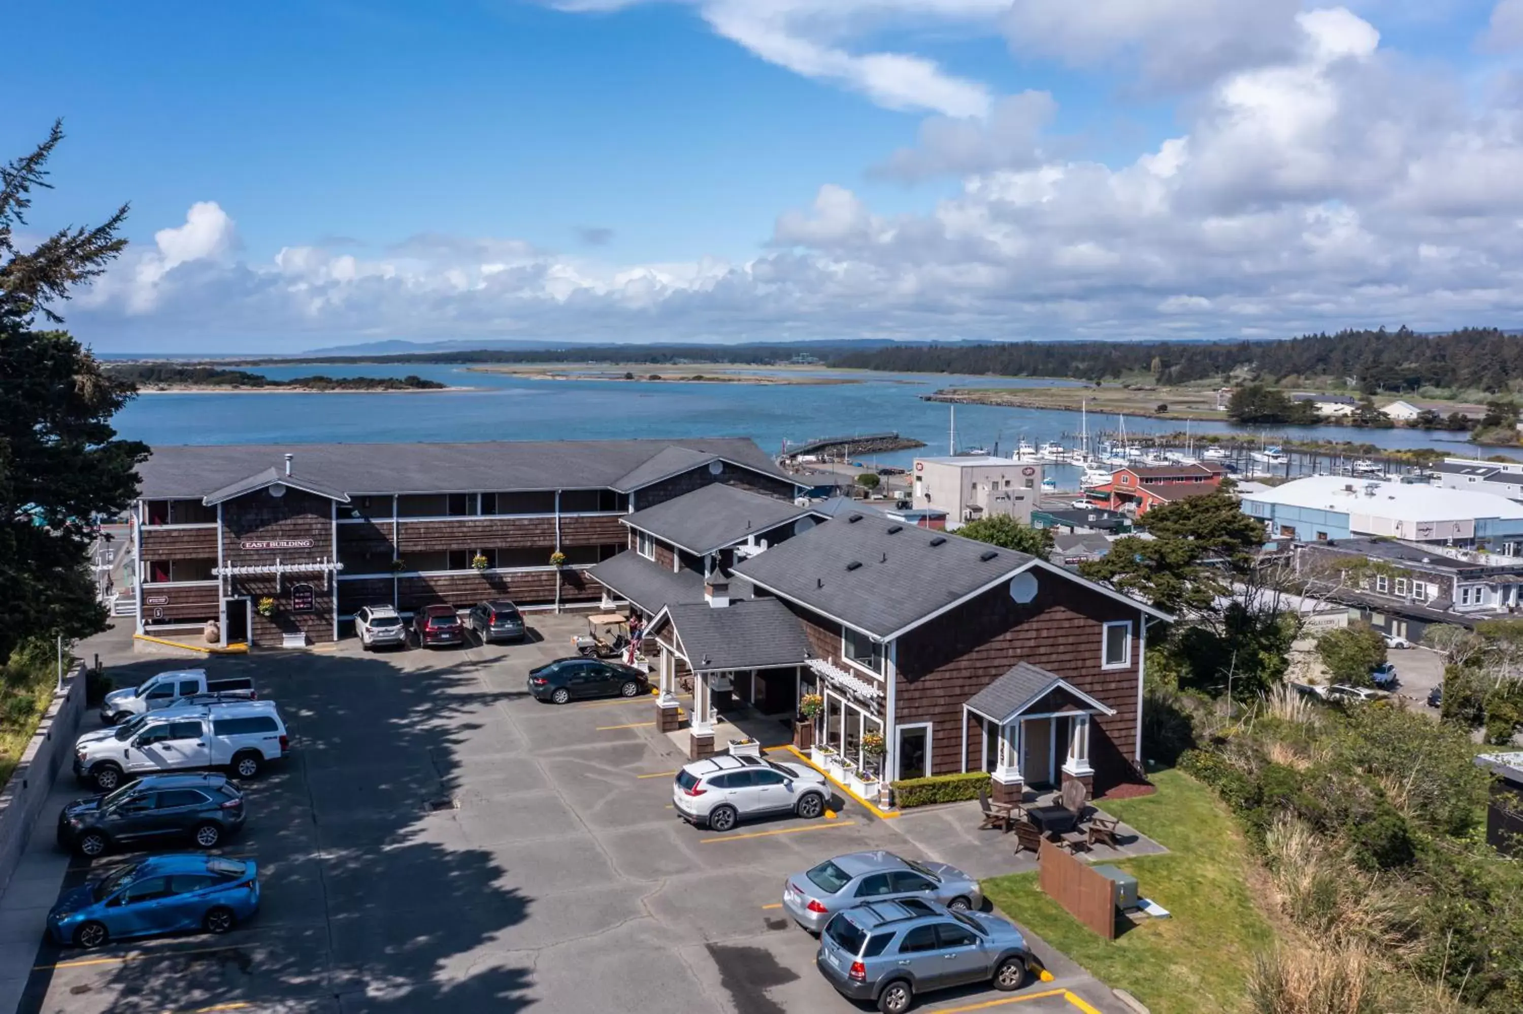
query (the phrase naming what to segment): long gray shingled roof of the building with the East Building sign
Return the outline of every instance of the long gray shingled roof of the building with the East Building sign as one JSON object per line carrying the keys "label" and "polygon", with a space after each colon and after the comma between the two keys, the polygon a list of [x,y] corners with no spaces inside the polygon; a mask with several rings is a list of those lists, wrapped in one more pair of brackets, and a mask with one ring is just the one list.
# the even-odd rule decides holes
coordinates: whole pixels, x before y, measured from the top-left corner
{"label": "long gray shingled roof of the building with the East Building sign", "polygon": [[[398,402],[401,405],[401,402]],[[681,454],[666,454],[670,449]],[[506,440],[492,443],[299,443],[157,446],[139,466],[145,498],[206,496],[295,455],[297,475],[321,475],[350,496],[535,489],[631,490],[722,457],[787,478],[745,437],[682,440]],[[656,460],[658,467],[646,469]],[[731,467],[731,466],[725,466]],[[659,472],[659,474],[658,474]],[[646,478],[649,477],[649,478]]]}

